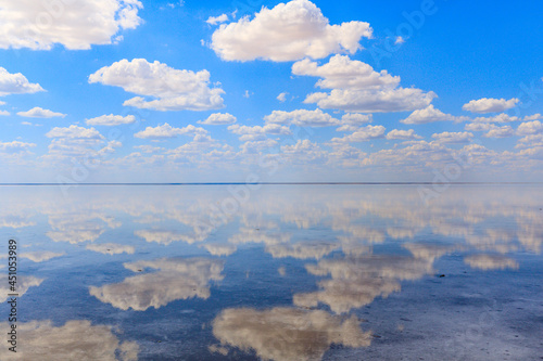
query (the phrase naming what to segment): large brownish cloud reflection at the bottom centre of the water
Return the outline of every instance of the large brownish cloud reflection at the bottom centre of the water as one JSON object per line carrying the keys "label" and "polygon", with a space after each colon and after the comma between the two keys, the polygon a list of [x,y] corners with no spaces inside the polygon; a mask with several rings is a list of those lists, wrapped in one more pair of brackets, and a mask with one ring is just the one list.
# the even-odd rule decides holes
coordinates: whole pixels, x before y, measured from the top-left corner
{"label": "large brownish cloud reflection at the bottom centre of the water", "polygon": [[223,310],[213,320],[213,335],[224,345],[254,350],[263,360],[320,360],[332,344],[371,343],[371,333],[363,332],[354,315],[345,320],[323,310],[287,307]]}

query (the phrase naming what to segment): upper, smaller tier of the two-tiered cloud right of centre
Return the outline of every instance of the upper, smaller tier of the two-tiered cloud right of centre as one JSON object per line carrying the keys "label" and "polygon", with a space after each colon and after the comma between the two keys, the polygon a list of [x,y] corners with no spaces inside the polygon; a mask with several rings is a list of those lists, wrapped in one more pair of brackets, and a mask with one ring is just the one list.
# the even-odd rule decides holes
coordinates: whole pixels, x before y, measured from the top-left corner
{"label": "upper, smaller tier of the two-tiered cloud right of centre", "polygon": [[292,74],[320,77],[323,79],[316,86],[324,89],[382,89],[395,88],[400,83],[400,77],[393,77],[387,70],[377,73],[370,65],[344,55],[334,55],[321,66],[304,59],[292,65]]}

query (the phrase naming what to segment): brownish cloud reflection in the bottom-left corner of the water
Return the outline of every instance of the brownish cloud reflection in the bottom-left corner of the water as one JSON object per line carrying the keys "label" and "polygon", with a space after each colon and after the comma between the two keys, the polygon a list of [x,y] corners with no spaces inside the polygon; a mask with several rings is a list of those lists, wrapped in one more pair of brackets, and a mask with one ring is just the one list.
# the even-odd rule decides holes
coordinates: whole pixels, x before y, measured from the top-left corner
{"label": "brownish cloud reflection in the bottom-left corner of the water", "polygon": [[[10,324],[2,322],[0,327],[9,330]],[[51,321],[18,323],[17,335],[25,340],[24,347],[17,347],[16,353],[2,347],[2,360],[138,360],[137,343],[121,343],[111,326],[86,320],[67,321],[62,326]]]}

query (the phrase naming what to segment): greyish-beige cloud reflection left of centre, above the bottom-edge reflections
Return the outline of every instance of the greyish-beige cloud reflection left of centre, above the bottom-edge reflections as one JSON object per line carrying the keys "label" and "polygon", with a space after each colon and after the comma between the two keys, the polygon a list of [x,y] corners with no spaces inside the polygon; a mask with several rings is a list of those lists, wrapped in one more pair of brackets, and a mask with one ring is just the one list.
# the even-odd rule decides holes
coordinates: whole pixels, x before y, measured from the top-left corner
{"label": "greyish-beige cloud reflection left of centre, above the bottom-edge reflections", "polygon": [[134,275],[121,283],[89,287],[90,295],[113,307],[135,311],[155,309],[178,300],[211,296],[209,283],[223,280],[224,261],[218,259],[157,259],[124,265],[134,272],[146,269],[156,272]]}

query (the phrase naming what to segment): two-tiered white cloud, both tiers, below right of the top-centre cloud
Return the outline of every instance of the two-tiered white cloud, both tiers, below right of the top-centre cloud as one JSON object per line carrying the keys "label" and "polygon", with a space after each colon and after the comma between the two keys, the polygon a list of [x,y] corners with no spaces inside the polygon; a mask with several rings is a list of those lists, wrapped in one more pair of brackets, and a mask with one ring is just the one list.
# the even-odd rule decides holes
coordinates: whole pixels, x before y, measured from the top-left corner
{"label": "two-tiered white cloud, both tiers, below right of the top-centre cloud", "polygon": [[399,87],[400,77],[376,73],[371,66],[348,56],[336,55],[321,66],[304,60],[292,67],[294,74],[323,77],[316,86],[332,89],[329,93],[308,94],[304,103],[321,108],[356,113],[414,111],[428,106],[437,96],[432,91]]}

